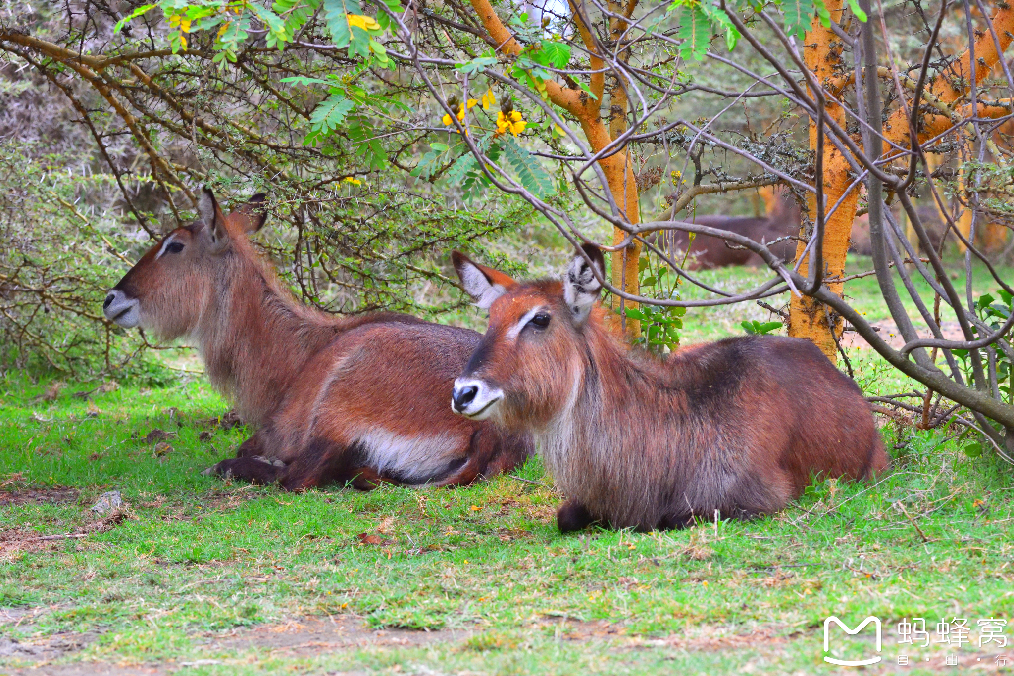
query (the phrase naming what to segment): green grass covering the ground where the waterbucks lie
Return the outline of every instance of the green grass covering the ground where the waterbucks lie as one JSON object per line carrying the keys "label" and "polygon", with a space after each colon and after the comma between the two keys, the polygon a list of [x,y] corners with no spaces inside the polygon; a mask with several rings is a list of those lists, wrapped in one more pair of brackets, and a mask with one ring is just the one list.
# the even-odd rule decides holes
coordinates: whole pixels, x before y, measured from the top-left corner
{"label": "green grass covering the ground where the waterbucks lie", "polygon": [[[857,298],[864,289],[850,287]],[[691,315],[687,342],[722,332],[706,316]],[[868,389],[903,385],[876,359],[857,368]],[[49,384],[0,380],[0,490],[80,495],[0,507],[0,618],[17,618],[0,635],[88,637],[58,661],[219,662],[195,674],[846,673],[822,662],[828,614],[853,625],[879,616],[888,664],[902,617],[925,617],[932,632],[940,618],[975,627],[1014,614],[1012,468],[966,457],[948,431],[888,425],[892,473],[875,485],[816,483],[765,519],[562,536],[560,496],[537,459],[467,489],[287,494],[201,475],[247,432],[207,423],[228,404],[200,378],[88,400],[72,394],[94,383],[46,401]],[[175,433],[170,451],[144,440],[153,429]],[[110,530],[9,545],[85,527],[112,490],[130,506]],[[208,644],[304,616],[440,633],[424,646],[308,653]],[[1003,652],[980,651],[974,628],[971,639],[957,651],[965,666],[947,673]],[[914,673],[945,669],[940,646],[906,652]],[[0,673],[30,662],[0,657]]]}

